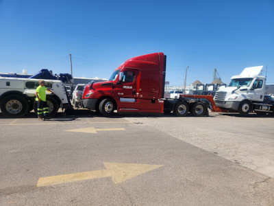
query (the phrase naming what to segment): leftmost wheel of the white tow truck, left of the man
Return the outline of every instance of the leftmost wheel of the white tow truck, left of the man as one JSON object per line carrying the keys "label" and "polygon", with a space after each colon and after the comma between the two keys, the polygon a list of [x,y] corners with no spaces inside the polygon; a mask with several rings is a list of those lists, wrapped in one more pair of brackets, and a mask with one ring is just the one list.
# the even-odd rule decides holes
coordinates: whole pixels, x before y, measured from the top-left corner
{"label": "leftmost wheel of the white tow truck, left of the man", "polygon": [[1,112],[6,117],[23,117],[29,111],[27,100],[19,95],[9,95],[1,102]]}

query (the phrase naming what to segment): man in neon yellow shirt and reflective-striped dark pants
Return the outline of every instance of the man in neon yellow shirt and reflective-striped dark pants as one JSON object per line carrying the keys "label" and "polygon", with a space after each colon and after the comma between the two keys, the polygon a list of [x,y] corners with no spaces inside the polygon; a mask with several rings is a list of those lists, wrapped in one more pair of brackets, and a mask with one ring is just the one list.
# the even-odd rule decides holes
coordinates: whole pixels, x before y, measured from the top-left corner
{"label": "man in neon yellow shirt and reflective-striped dark pants", "polygon": [[37,114],[38,114],[38,119],[39,120],[44,120],[44,119],[49,119],[49,106],[47,106],[46,102],[46,91],[51,91],[51,89],[47,89],[45,87],[45,80],[40,80],[39,81],[40,86],[36,88],[36,102],[37,102]]}

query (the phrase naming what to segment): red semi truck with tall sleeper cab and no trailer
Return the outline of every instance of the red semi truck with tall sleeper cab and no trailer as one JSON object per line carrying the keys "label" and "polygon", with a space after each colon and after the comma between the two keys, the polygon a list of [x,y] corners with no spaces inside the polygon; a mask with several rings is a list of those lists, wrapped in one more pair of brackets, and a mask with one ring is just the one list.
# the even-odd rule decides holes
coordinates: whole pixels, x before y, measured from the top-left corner
{"label": "red semi truck with tall sleeper cab and no trailer", "polygon": [[84,88],[84,108],[106,117],[117,113],[170,113],[208,115],[206,99],[164,99],[166,56],[163,53],[137,56],[114,70],[108,82],[90,83]]}

